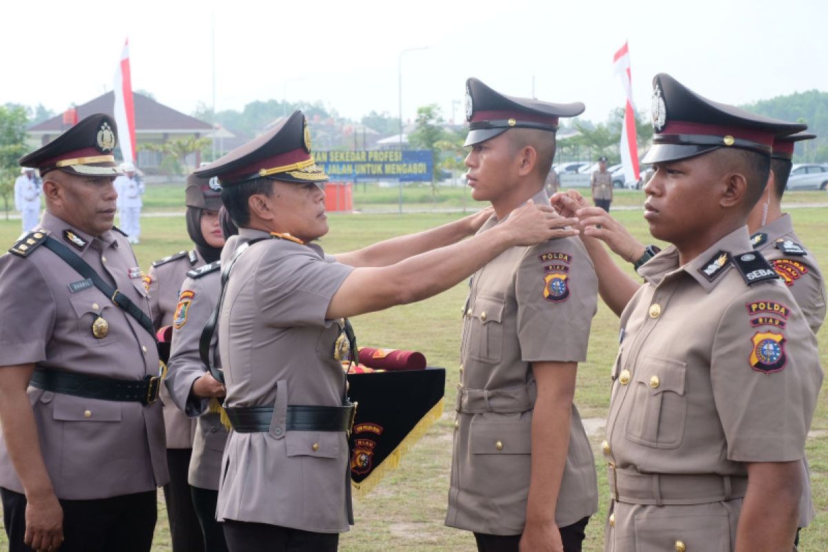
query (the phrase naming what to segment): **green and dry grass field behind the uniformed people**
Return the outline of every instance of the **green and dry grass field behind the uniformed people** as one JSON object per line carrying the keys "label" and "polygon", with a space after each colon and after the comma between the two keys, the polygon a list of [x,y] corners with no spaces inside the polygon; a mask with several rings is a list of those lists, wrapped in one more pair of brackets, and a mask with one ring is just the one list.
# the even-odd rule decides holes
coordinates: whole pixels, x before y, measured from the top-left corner
{"label": "green and dry grass field behind the uniformed people", "polygon": [[[413,189],[412,189],[413,190]],[[359,190],[358,190],[359,191]],[[407,193],[409,190],[406,190]],[[425,190],[428,194],[430,190]],[[444,190],[440,190],[442,194]],[[355,203],[388,205],[388,189],[371,189],[355,194]],[[397,190],[392,190],[393,194]],[[460,195],[452,202],[460,207]],[[154,185],[147,192],[147,209],[151,211],[181,212],[183,186]],[[414,203],[412,197],[412,204]],[[426,199],[427,196],[426,196]],[[479,209],[468,196],[466,206]],[[787,194],[788,203],[809,204],[828,200],[825,193],[797,192]],[[396,195],[391,198],[391,204]],[[614,205],[635,206],[643,203],[640,191],[616,194]],[[425,202],[428,204],[428,201]],[[442,206],[438,205],[438,209]],[[797,232],[816,258],[828,259],[826,208],[792,209]],[[652,241],[640,210],[619,210],[616,216],[639,239]],[[449,222],[461,214],[331,214],[330,233],[321,240],[326,252],[344,252],[363,247],[384,238],[416,232]],[[142,219],[142,242],[135,247],[138,261],[144,270],[157,258],[189,247],[183,216],[146,217]],[[0,220],[0,242],[11,244],[20,233],[17,220]],[[624,266],[633,274],[631,267]],[[7,282],[4,282],[8,285]],[[465,299],[465,284],[455,286],[430,300],[416,305],[405,305],[381,313],[366,314],[354,319],[359,343],[381,347],[409,348],[426,354],[431,365],[446,367],[445,406],[447,412],[417,444],[401,467],[388,475],[366,499],[354,501],[356,525],[340,540],[340,550],[474,550],[474,538],[464,531],[443,526],[449,483],[451,440],[455,386],[458,382],[458,352],[460,348],[460,307]],[[820,351],[823,366],[828,365],[828,330],[820,332]],[[617,348],[618,319],[600,305],[590,336],[587,362],[580,365],[576,403],[584,418],[603,418],[609,401],[609,367]],[[807,452],[811,462],[811,479],[818,515],[814,523],[802,533],[800,550],[820,552],[828,550],[828,404],[822,391],[817,405],[812,430],[815,436],[808,441]],[[595,457],[601,458],[598,444],[600,432],[593,439]],[[601,510],[587,527],[585,550],[601,550],[608,490],[603,462],[598,462]],[[0,535],[0,550],[5,550],[5,535]],[[159,502],[159,522],[153,550],[171,550],[166,512]]]}

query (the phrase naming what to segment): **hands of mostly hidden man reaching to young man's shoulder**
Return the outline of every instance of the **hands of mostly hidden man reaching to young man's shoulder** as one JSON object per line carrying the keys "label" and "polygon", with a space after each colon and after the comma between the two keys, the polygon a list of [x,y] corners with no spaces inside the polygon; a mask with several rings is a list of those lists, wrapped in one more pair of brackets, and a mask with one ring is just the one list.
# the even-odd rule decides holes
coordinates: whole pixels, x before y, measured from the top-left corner
{"label": "hands of mostly hidden man reaching to young man's shoulder", "polygon": [[575,190],[554,194],[550,203],[561,216],[578,219],[577,228],[587,238],[599,239],[616,255],[628,262],[635,262],[644,253],[644,246],[600,207],[590,207],[586,199]]}

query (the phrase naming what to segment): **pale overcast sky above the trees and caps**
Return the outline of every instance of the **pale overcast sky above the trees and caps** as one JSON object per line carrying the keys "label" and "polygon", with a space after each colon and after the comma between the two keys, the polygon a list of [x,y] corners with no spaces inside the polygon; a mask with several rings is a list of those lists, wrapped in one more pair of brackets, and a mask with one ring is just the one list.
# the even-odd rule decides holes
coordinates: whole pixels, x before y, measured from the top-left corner
{"label": "pale overcast sky above the trees and caps", "polygon": [[623,104],[612,59],[624,41],[645,112],[658,72],[724,103],[828,90],[824,0],[7,0],[0,13],[0,103],[55,112],[112,89],[127,36],[132,88],[184,113],[213,103],[213,43],[218,110],[284,97],[397,115],[401,52],[421,46],[402,54],[406,119],[437,103],[459,122],[475,76],[517,96],[534,78],[537,98],[582,101],[603,121]]}

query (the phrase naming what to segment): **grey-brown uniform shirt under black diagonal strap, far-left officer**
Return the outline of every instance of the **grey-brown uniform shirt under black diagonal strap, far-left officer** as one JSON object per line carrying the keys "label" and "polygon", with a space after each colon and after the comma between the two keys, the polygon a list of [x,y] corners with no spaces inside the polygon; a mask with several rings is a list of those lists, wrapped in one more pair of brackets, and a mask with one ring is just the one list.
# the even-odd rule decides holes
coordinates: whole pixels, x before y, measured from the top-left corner
{"label": "grey-brown uniform shirt under black diagonal strap, far-left officer", "polygon": [[[110,230],[93,238],[49,213],[41,228],[149,312],[141,270],[123,235]],[[103,338],[92,334],[98,317],[108,323]],[[30,362],[128,380],[158,375],[152,335],[42,245],[25,258],[0,257],[0,369]],[[167,482],[160,403],[85,399],[31,386],[26,392],[58,498],[115,497]],[[0,487],[23,492],[5,440],[0,440]]]}

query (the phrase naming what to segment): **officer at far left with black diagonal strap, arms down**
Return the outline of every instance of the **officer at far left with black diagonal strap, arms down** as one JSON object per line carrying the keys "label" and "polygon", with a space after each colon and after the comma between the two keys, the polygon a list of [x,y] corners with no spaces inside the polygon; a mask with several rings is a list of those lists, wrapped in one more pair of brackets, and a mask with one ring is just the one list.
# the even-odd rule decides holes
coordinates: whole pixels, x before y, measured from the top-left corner
{"label": "officer at far left with black diagonal strap, arms down", "polygon": [[116,136],[96,113],[20,160],[43,175],[46,213],[0,257],[9,550],[152,545],[167,480],[161,378],[141,270],[113,228]]}

